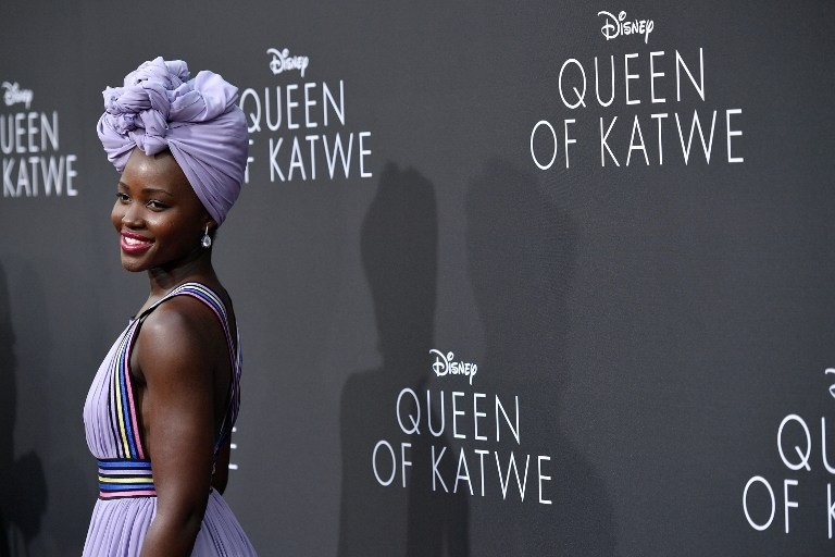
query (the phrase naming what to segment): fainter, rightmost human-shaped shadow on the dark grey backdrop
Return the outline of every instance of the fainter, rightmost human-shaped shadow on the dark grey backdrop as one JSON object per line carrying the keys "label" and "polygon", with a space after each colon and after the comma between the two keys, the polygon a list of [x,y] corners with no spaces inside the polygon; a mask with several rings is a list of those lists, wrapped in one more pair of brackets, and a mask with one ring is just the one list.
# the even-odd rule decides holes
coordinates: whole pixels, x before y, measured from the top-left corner
{"label": "fainter, rightmost human-shaped shadow on the dark grey backdrop", "polygon": [[534,472],[536,456],[547,456],[544,474],[551,476],[540,496],[550,504],[537,499],[532,473],[524,502],[483,508],[474,518],[479,543],[490,555],[613,555],[603,482],[560,428],[576,225],[531,174],[498,159],[470,183],[466,216],[470,280],[486,343],[479,389],[519,396],[521,441],[502,443],[499,451],[529,454]]}

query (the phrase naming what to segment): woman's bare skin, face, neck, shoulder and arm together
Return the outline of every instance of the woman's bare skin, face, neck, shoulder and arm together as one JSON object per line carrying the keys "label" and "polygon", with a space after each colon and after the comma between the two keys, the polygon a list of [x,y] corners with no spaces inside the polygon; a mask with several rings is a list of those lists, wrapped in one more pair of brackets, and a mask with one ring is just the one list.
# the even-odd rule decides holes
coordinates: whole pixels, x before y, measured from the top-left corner
{"label": "woman's bare skin, face, neck, shoulder and arm together", "polygon": [[[232,302],[200,246],[216,228],[174,157],[134,149],[117,186],[111,220],[120,233],[122,264],[148,273],[152,306],[176,286],[199,282]],[[138,314],[138,313],[137,313]],[[212,478],[212,450],[228,403],[232,363],[223,327],[200,300],[176,296],[144,321],[130,372],[145,449],[153,463],[157,515],[141,556],[190,555],[211,486],[223,493],[229,460],[224,443]]]}

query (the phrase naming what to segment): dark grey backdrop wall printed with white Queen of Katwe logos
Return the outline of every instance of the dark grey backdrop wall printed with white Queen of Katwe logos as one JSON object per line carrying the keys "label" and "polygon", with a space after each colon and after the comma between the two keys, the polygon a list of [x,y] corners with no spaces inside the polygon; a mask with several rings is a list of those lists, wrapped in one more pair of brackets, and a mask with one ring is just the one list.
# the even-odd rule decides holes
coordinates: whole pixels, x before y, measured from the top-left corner
{"label": "dark grey backdrop wall printed with white Queen of Katwe logos", "polygon": [[832,555],[826,2],[0,4],[0,555],[78,555],[142,305],[101,91],[239,87],[261,555]]}

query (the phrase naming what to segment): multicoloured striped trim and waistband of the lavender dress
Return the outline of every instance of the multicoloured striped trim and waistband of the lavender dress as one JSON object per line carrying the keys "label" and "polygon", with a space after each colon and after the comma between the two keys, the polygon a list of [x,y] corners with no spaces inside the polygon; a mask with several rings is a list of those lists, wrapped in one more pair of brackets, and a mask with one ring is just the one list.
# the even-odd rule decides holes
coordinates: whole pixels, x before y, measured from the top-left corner
{"label": "multicoloured striped trim and waistband of the lavender dress", "polygon": [[[122,336],[112,360],[112,375],[109,393],[110,425],[119,458],[99,461],[99,485],[101,498],[153,496],[153,478],[141,440],[138,412],[135,400],[135,386],[130,376],[130,355],[139,326],[148,314],[163,301],[174,296],[191,296],[205,304],[217,317],[223,326],[229,350],[233,377],[229,382],[229,395],[226,413],[217,440],[214,444],[216,459],[221,445],[232,433],[240,407],[240,370],[242,363],[239,337],[233,342],[229,331],[226,307],[211,289],[199,283],[186,283],[174,288],[164,298],[148,308],[135,319]],[[102,465],[103,463],[103,465]],[[112,467],[112,468],[108,468]],[[107,472],[113,470],[112,473]],[[104,470],[104,472],[102,472]],[[136,480],[136,482],[133,482]],[[129,486],[129,487],[125,487]],[[105,488],[107,487],[107,488]]]}

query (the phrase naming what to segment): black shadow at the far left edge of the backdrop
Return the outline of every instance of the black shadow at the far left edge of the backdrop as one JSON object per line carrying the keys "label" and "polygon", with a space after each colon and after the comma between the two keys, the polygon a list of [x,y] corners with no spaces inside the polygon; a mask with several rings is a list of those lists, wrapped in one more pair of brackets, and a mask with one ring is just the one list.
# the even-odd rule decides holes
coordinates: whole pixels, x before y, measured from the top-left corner
{"label": "black shadow at the far left edge of the backdrop", "polygon": [[0,265],[0,557],[28,555],[47,507],[43,466],[34,451],[15,458],[17,360],[5,271]]}

